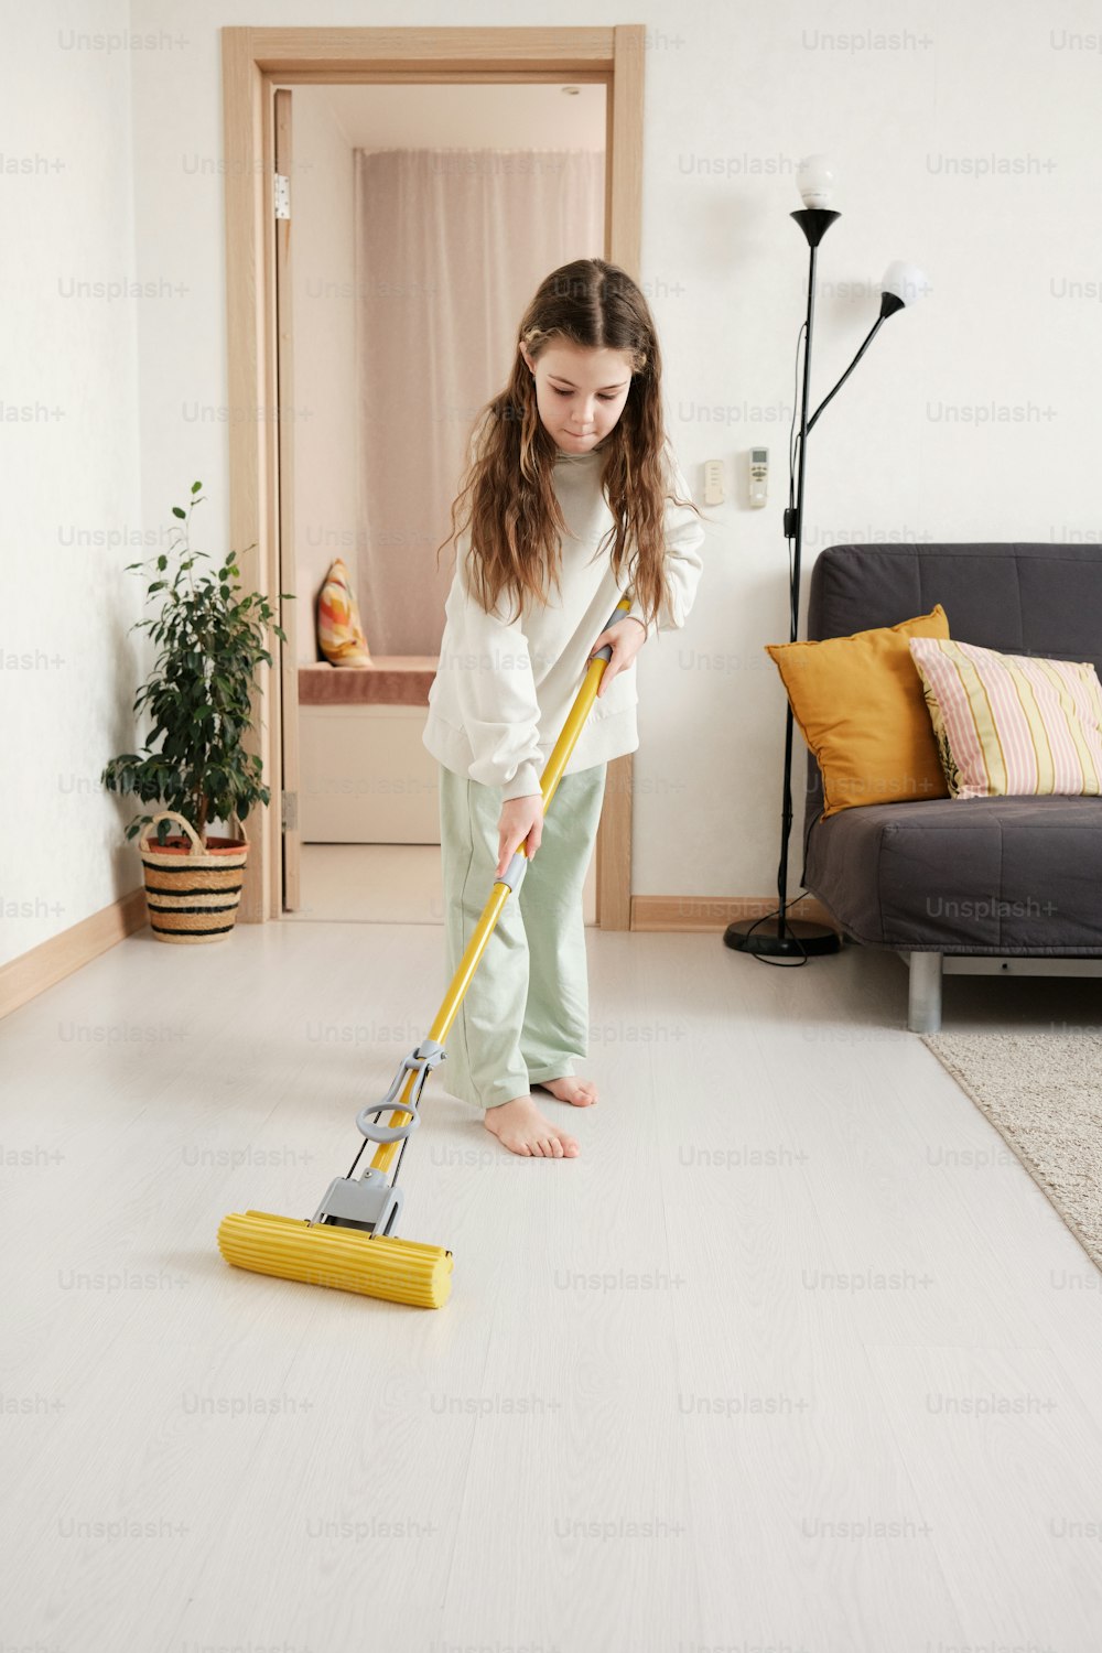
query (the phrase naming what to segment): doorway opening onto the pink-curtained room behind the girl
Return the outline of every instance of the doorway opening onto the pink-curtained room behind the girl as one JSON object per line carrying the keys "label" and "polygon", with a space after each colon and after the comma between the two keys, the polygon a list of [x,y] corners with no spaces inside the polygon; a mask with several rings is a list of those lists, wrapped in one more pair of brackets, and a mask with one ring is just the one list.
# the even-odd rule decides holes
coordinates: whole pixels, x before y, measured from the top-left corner
{"label": "doorway opening onto the pink-curtained room behind the girl", "polygon": [[[284,917],[443,922],[436,760],[421,734],[444,626],[451,501],[474,418],[549,269],[605,250],[605,88],[274,89],[287,226],[278,258],[281,588],[296,592],[283,707]],[[278,250],[279,251],[279,250]],[[289,307],[284,329],[284,307]],[[286,519],[287,512],[281,511]],[[337,580],[363,646],[314,625]],[[287,812],[291,813],[291,812]],[[596,863],[583,891],[596,917]]]}

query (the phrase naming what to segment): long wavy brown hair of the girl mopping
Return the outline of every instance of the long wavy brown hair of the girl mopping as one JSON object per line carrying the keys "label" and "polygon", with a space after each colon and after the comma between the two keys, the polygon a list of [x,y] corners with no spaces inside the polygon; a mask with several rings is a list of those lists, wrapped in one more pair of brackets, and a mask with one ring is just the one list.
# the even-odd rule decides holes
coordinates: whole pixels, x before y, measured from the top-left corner
{"label": "long wavy brown hair of the girl mopping", "polygon": [[[535,380],[520,344],[539,360],[549,344],[567,339],[583,349],[625,350],[631,385],[620,418],[605,438],[601,484],[613,516],[611,564],[621,590],[631,588],[648,623],[666,595],[666,484],[663,360],[649,306],[626,271],[603,258],[560,264],[540,283],[517,329],[517,350],[506,388],[487,402],[473,426],[473,458],[451,506],[451,534],[471,531],[473,587],[491,613],[502,592],[545,603],[550,582],[560,588],[562,536],[568,532],[553,488],[558,448],[544,428]],[[692,499],[677,499],[701,516]]]}

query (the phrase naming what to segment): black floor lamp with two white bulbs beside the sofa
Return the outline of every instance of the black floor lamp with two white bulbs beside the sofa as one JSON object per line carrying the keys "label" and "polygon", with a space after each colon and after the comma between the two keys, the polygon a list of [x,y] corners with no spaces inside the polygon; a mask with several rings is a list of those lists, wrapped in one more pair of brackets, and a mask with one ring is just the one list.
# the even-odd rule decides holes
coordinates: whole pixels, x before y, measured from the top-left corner
{"label": "black floor lamp with two white bulbs beside the sofa", "polygon": [[[876,324],[869,331],[864,344],[854,355],[853,362],[841,375],[834,388],[823,402],[818,405],[815,413],[808,418],[808,400],[811,388],[811,321],[815,314],[815,264],[819,241],[841,217],[838,212],[831,212],[829,200],[834,190],[834,165],[826,159],[826,155],[810,155],[806,160],[800,162],[796,170],[796,183],[800,187],[800,195],[803,198],[803,212],[795,212],[791,217],[796,220],[808,243],[810,250],[810,268],[808,268],[808,317],[803,326],[806,334],[803,345],[803,388],[800,395],[800,435],[798,435],[798,463],[796,463],[796,481],[795,481],[795,504],[793,504],[793,479],[791,479],[791,463],[790,463],[790,484],[788,484],[788,509],[785,511],[785,539],[791,544],[791,577],[788,585],[790,598],[790,620],[788,620],[788,636],[790,641],[796,641],[796,633],[800,626],[800,554],[803,550],[803,483],[805,483],[805,458],[808,445],[808,431],[815,426],[819,413],[833,397],[838,395],[841,387],[846,383],[854,367],[864,355],[864,352],[872,344],[872,339],[884,326],[889,316],[895,311],[904,309],[905,304],[914,302],[920,298],[925,289],[925,276],[915,264],[902,263],[895,260],[887,266],[884,279],[881,281],[881,314]],[[786,914],[788,903],[788,838],[791,836],[791,744],[793,744],[793,716],[791,704],[788,704],[785,712],[785,787],[781,797],[781,838],[780,838],[780,866],[777,869],[777,894],[778,906],[773,912],[767,912],[760,919],[742,919],[735,924],[729,924],[724,931],[724,944],[734,947],[737,952],[752,952],[765,960],[772,959],[796,959],[800,964],[805,959],[838,952],[841,947],[841,939],[826,924],[811,924],[806,919],[790,919]]]}

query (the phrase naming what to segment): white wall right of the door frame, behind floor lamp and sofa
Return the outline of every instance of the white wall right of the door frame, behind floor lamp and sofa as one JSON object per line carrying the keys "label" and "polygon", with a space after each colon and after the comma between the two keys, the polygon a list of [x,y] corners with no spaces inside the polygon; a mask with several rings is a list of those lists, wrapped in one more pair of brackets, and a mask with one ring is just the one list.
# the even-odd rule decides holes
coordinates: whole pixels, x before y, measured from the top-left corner
{"label": "white wall right of the door frame, behind floor lamp and sofa", "polygon": [[[765,894],[785,703],[762,645],[788,630],[780,524],[806,306],[806,245],[788,218],[801,205],[795,164],[826,152],[841,172],[843,218],[819,250],[813,405],[876,321],[886,264],[910,258],[932,283],[884,326],[808,441],[805,574],[823,545],[849,539],[1099,539],[1102,58],[1049,33],[1094,31],[1097,46],[1099,17],[1021,0],[686,0],[676,23],[658,7],[634,15],[653,25],[643,276],[674,436],[697,501],[699,461],[724,456],[730,471],[753,443],[768,443],[773,481],[765,511],[714,512],[697,612],[641,656],[633,883]],[[1094,304],[1057,299],[1062,274],[1094,279]],[[991,405],[996,418],[980,423]]]}

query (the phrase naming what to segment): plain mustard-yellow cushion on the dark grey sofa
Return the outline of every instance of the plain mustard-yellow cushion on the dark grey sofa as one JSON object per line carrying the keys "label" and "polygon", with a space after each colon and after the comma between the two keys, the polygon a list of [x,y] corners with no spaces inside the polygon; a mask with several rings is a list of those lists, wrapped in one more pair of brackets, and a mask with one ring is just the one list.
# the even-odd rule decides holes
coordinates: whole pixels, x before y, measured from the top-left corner
{"label": "plain mustard-yellow cushion on the dark grey sofa", "polygon": [[823,817],[861,803],[947,798],[948,785],[907,640],[948,638],[940,603],[894,626],[821,643],[767,643],[823,772]]}

